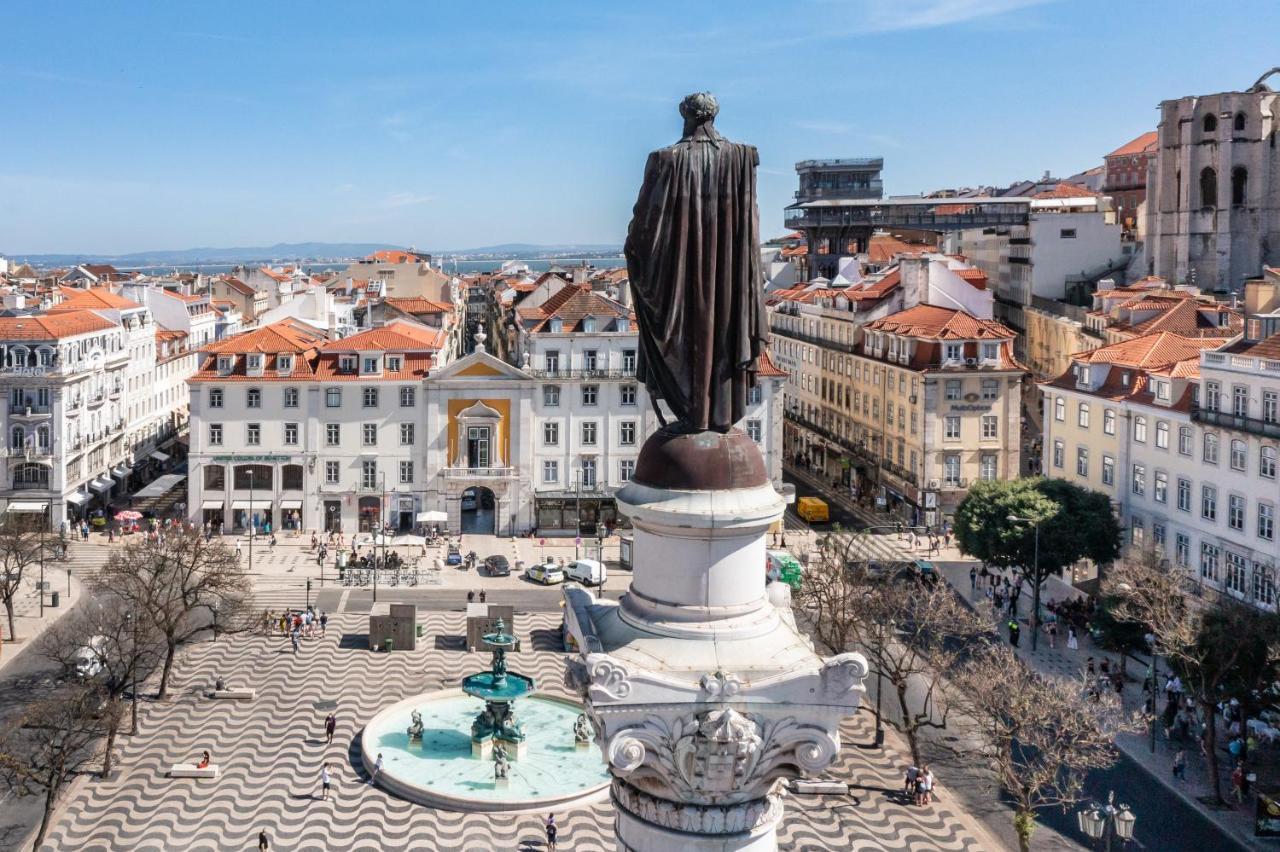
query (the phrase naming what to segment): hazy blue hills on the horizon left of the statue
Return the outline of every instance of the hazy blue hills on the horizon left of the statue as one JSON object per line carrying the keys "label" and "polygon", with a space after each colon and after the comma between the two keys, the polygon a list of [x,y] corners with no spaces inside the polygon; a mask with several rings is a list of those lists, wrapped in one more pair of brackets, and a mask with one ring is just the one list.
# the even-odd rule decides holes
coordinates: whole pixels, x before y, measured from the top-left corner
{"label": "hazy blue hills on the horizon left of the statue", "polygon": [[[285,261],[326,261],[351,260],[366,257],[372,252],[384,248],[404,248],[392,243],[276,243],[274,246],[237,246],[232,248],[183,248],[183,249],[157,249],[150,252],[132,252],[129,255],[93,255],[93,253],[61,253],[61,255],[20,255],[10,257],[19,262],[35,266],[70,266],[74,264],[113,264],[119,267],[131,266],[196,266],[200,264],[255,264],[255,262],[285,262]],[[451,257],[498,257],[498,258],[534,258],[534,257],[573,257],[581,255],[614,255],[621,253],[621,246],[608,244],[563,244],[539,246],[534,243],[500,243],[498,246],[483,246],[480,248],[433,251],[420,248],[433,255],[448,255]]]}

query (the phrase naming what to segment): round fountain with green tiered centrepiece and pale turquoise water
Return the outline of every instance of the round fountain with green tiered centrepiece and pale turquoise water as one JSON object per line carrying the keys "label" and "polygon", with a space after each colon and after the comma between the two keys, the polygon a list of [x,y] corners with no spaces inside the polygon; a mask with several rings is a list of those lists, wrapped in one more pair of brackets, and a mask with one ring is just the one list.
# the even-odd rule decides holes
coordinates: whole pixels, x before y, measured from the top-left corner
{"label": "round fountain with green tiered centrepiece and pale turquoise water", "polygon": [[534,695],[534,679],[507,668],[516,637],[502,619],[484,640],[493,647],[488,672],[465,677],[460,690],[404,698],[365,725],[366,768],[384,757],[378,784],[461,811],[545,811],[607,798],[608,769],[585,747],[595,730],[582,707]]}

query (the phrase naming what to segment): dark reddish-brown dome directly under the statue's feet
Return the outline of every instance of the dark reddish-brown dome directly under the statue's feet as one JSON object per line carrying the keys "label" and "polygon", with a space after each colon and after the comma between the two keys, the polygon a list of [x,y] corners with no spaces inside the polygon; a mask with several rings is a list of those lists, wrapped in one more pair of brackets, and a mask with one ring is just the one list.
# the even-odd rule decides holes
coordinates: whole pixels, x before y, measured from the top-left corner
{"label": "dark reddish-brown dome directly under the statue's feet", "polygon": [[769,482],[760,448],[740,429],[694,431],[681,423],[649,436],[631,478],[677,491],[751,489]]}

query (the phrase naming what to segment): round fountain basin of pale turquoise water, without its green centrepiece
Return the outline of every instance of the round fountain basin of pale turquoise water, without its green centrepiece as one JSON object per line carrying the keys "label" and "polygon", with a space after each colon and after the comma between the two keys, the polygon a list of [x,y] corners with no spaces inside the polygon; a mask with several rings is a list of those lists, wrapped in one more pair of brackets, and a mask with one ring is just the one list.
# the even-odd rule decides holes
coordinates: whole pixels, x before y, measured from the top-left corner
{"label": "round fountain basin of pale turquoise water, without its green centrepiece", "polygon": [[[431,807],[451,811],[535,812],[591,805],[609,794],[609,771],[600,751],[577,748],[573,720],[581,705],[532,695],[520,700],[526,748],[511,764],[506,784],[493,777],[493,761],[472,757],[471,722],[484,702],[462,692],[429,692],[384,709],[361,733],[361,759],[372,771],[379,752],[378,785]],[[410,743],[410,714],[422,714],[422,742]]]}

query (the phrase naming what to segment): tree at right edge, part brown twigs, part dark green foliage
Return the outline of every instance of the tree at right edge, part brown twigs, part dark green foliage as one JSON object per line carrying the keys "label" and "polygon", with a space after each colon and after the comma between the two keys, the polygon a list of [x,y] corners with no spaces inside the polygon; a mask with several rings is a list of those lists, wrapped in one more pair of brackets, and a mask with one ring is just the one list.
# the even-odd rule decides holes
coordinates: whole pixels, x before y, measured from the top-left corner
{"label": "tree at right edge, part brown twigs, part dark green foliage", "polygon": [[1155,551],[1132,554],[1110,572],[1103,591],[1115,613],[1147,626],[1170,668],[1204,718],[1203,745],[1213,797],[1222,801],[1217,753],[1217,704],[1236,697],[1248,710],[1253,691],[1276,677],[1280,623],[1228,595],[1187,592],[1185,577]]}

